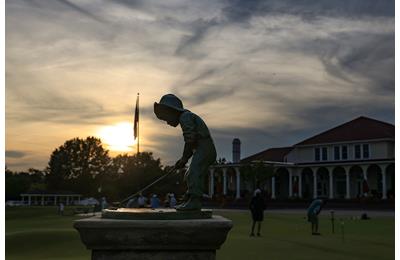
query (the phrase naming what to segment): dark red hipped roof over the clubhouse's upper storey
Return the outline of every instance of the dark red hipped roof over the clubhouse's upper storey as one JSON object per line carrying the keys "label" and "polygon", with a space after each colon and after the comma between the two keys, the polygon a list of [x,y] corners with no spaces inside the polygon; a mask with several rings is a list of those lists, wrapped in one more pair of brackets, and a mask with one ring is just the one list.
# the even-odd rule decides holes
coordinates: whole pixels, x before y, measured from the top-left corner
{"label": "dark red hipped roof over the clubhouse's upper storey", "polygon": [[310,137],[297,145],[348,142],[372,139],[394,139],[394,125],[368,117],[358,117],[347,123]]}

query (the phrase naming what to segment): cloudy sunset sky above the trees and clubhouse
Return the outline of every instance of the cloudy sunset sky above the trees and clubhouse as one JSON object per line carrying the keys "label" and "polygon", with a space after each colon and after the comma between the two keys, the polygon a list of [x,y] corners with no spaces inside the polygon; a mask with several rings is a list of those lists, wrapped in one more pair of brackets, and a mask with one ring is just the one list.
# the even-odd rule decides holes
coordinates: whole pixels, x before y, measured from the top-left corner
{"label": "cloudy sunset sky above the trees and clubhouse", "polygon": [[6,165],[122,136],[138,92],[141,150],[164,164],[183,144],[153,115],[166,93],[227,159],[235,137],[244,157],[361,115],[394,123],[394,29],[394,0],[7,0]]}

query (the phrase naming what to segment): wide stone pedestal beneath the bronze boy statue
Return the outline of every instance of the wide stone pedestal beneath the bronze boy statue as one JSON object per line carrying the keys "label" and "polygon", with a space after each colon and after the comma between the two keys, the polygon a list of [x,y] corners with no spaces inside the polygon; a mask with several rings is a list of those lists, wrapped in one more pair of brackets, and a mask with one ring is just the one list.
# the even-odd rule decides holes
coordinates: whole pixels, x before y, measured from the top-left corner
{"label": "wide stone pedestal beneath the bronze boy statue", "polygon": [[212,260],[232,228],[230,220],[210,211],[129,211],[75,221],[93,260]]}

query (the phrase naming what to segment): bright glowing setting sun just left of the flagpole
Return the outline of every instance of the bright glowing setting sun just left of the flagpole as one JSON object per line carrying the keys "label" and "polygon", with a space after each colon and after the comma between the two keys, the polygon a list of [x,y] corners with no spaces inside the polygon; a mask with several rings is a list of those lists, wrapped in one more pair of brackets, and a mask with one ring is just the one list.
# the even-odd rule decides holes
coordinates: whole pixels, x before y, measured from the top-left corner
{"label": "bright glowing setting sun just left of the flagpole", "polygon": [[105,126],[99,130],[98,135],[111,151],[132,151],[136,144],[136,140],[133,138],[132,124],[128,122]]}

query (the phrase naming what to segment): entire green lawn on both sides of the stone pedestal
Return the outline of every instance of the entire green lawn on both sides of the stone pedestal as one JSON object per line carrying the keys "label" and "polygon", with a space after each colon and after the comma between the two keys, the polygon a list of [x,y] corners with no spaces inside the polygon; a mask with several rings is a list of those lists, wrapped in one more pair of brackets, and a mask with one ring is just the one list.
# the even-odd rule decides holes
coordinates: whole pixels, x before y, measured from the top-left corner
{"label": "entire green lawn on both sides of the stone pedestal", "polygon": [[[69,212],[68,212],[69,211]],[[72,209],[66,210],[72,213]],[[266,214],[262,237],[249,237],[250,217],[244,212],[218,213],[234,222],[217,259],[394,259],[394,218],[345,219],[331,234],[330,221],[320,218],[322,236],[311,236],[303,216]],[[53,207],[6,209],[6,259],[90,259],[72,222]]]}

